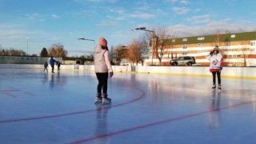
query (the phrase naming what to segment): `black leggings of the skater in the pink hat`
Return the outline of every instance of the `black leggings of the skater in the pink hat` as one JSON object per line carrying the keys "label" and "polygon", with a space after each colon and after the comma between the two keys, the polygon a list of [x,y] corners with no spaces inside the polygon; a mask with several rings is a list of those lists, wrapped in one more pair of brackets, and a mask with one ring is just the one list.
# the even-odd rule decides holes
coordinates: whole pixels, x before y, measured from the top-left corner
{"label": "black leggings of the skater in the pink hat", "polygon": [[109,77],[108,73],[96,73],[96,76],[98,78],[98,86],[97,86],[97,92],[103,94],[107,94],[107,78]]}

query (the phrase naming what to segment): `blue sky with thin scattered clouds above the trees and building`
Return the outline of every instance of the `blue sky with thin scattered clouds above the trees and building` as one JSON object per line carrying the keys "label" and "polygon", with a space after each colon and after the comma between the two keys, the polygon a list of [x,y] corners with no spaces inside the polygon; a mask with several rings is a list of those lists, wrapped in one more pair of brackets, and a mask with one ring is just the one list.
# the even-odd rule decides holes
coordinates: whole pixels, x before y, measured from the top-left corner
{"label": "blue sky with thin scattered clouds above the trees and building", "polygon": [[178,38],[256,31],[255,6],[255,0],[0,0],[0,49],[40,54],[60,43],[68,56],[81,56],[100,37],[109,47],[128,45],[145,33],[137,27],[166,27]]}

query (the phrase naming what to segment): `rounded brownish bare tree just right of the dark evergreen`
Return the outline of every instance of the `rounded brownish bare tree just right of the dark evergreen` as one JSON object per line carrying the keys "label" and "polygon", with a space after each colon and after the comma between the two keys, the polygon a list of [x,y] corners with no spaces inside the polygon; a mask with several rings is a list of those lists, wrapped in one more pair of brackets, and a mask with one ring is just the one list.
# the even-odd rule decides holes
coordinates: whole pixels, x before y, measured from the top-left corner
{"label": "rounded brownish bare tree just right of the dark evergreen", "polygon": [[48,50],[48,55],[52,57],[66,57],[67,51],[64,50],[64,46],[60,43],[53,44]]}

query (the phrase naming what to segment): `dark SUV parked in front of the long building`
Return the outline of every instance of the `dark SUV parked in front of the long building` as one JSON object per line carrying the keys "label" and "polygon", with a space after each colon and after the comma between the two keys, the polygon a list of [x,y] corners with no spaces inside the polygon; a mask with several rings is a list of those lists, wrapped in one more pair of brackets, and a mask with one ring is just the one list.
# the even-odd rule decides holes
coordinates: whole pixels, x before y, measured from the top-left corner
{"label": "dark SUV parked in front of the long building", "polygon": [[170,60],[170,65],[172,66],[192,66],[195,64],[195,58],[191,56],[182,56],[178,59]]}

